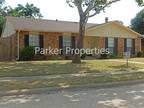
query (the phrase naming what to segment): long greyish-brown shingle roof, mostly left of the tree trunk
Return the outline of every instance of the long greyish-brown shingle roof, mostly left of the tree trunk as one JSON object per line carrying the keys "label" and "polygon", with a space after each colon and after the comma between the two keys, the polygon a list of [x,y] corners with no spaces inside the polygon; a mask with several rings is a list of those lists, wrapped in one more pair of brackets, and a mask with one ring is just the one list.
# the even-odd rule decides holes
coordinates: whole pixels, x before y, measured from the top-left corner
{"label": "long greyish-brown shingle roof, mostly left of the tree trunk", "polygon": [[[78,32],[78,22],[43,20],[30,18],[7,17],[7,21],[12,24],[15,30],[34,30],[50,32]],[[97,24],[87,24],[86,28]]]}

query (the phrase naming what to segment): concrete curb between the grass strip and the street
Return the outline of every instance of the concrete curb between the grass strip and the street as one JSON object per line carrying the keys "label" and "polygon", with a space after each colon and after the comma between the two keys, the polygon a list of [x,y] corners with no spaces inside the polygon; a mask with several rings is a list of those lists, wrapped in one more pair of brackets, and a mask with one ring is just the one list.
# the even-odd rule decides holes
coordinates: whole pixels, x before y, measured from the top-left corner
{"label": "concrete curb between the grass strip and the street", "polygon": [[104,89],[104,88],[114,88],[114,87],[120,87],[120,86],[133,86],[133,85],[142,84],[142,83],[144,83],[144,80],[98,83],[98,84],[73,86],[73,87],[68,87],[68,88],[50,87],[50,88],[0,91],[0,96],[52,94],[52,93],[58,93],[58,92],[61,92],[61,91],[79,91],[79,90],[88,90],[88,89]]}

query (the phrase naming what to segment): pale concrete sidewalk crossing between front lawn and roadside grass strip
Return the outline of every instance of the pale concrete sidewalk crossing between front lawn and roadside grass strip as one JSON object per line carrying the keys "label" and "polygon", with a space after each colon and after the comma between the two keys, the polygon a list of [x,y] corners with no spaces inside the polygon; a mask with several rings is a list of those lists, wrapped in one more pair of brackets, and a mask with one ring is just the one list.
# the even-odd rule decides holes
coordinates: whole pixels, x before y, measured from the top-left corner
{"label": "pale concrete sidewalk crossing between front lawn and roadside grass strip", "polygon": [[133,74],[144,72],[144,69],[138,71],[128,70],[120,72],[104,72],[104,73],[84,73],[84,74],[60,74],[60,75],[43,75],[43,76],[25,76],[25,77],[0,77],[0,82],[5,81],[28,81],[28,80],[48,80],[56,78],[71,78],[71,77],[85,77],[85,76],[95,76],[95,77],[104,77],[111,75],[124,75],[124,74]]}

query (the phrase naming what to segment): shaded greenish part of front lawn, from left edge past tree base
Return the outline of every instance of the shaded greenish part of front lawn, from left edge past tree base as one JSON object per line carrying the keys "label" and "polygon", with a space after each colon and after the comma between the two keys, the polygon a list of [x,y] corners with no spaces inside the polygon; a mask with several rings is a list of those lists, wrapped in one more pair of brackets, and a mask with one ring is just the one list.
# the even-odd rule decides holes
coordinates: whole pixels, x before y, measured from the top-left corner
{"label": "shaded greenish part of front lawn, from left edge past tree base", "polygon": [[92,73],[99,70],[92,70],[85,62],[72,64],[71,62],[3,62],[0,63],[0,76],[37,76],[52,74],[74,74]]}

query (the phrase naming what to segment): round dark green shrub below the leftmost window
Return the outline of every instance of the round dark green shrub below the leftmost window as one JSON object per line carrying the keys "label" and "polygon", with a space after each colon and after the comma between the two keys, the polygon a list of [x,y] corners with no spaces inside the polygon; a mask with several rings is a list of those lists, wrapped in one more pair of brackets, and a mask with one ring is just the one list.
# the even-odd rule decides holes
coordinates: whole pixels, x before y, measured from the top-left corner
{"label": "round dark green shrub below the leftmost window", "polygon": [[20,51],[20,60],[32,60],[35,55],[34,47],[25,47]]}

